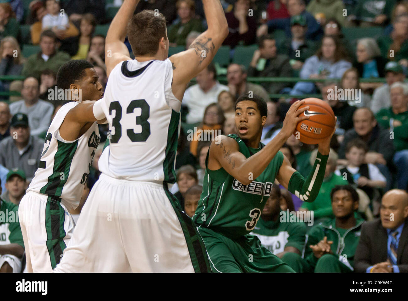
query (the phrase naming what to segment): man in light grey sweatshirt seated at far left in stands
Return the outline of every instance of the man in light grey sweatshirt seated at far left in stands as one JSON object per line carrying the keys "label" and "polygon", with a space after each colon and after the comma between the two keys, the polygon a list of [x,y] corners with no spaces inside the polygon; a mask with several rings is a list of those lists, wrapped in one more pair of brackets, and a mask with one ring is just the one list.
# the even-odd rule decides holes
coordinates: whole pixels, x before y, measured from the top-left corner
{"label": "man in light grey sweatshirt seated at far left in stands", "polygon": [[38,136],[48,130],[54,106],[39,99],[40,86],[34,77],[28,77],[23,82],[21,90],[22,100],[11,103],[10,113],[24,113],[28,116],[31,135]]}

